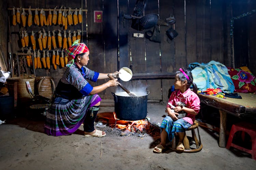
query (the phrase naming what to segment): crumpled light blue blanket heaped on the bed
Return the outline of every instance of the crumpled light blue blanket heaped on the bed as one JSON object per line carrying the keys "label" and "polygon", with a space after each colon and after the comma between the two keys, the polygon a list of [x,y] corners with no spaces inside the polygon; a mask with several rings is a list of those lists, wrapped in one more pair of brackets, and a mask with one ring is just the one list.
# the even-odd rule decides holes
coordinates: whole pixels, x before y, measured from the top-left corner
{"label": "crumpled light blue blanket heaped on the bed", "polygon": [[225,65],[210,61],[209,63],[191,63],[188,65],[193,75],[194,83],[198,90],[207,88],[220,88],[225,93],[234,92],[234,83],[232,82],[228,69]]}

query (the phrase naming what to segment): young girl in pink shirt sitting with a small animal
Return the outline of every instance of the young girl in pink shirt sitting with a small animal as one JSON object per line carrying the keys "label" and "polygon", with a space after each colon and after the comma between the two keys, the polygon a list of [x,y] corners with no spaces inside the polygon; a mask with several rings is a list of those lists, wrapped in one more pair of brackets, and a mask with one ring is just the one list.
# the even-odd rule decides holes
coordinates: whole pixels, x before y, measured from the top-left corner
{"label": "young girl in pink shirt sitting with a small animal", "polygon": [[[193,91],[189,88],[191,84],[193,85]],[[167,104],[168,116],[162,121],[161,142],[154,148],[153,152],[155,153],[162,152],[166,146],[167,136],[172,141],[175,132],[179,136],[179,143],[176,149],[184,151],[182,143],[184,132],[194,123],[195,116],[200,110],[200,100],[196,94],[197,86],[193,83],[193,76],[189,70],[180,68],[180,71],[176,72],[174,88],[176,90],[172,92],[168,102],[176,107],[174,108],[174,112],[172,112],[171,106]],[[183,102],[185,106],[177,106],[177,102]],[[186,117],[178,119],[177,116],[181,111],[186,112]]]}

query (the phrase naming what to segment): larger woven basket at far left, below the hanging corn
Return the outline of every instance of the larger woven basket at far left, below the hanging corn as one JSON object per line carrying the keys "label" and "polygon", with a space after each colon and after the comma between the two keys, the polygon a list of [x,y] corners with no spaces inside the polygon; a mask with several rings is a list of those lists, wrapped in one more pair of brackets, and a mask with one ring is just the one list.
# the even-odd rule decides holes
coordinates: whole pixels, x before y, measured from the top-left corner
{"label": "larger woven basket at far left, below the hanging corn", "polygon": [[23,104],[31,101],[33,96],[29,94],[26,82],[29,82],[34,94],[34,78],[29,77],[13,77],[6,79],[10,96],[14,96],[14,83],[17,82],[17,104]]}

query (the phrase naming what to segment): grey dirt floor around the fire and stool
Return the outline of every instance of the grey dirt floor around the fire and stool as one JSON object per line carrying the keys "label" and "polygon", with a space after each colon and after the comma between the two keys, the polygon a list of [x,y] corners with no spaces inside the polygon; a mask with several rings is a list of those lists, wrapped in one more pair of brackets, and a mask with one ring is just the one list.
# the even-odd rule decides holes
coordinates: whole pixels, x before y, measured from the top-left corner
{"label": "grey dirt floor around the fire and stool", "polygon": [[[102,138],[83,136],[83,128],[68,136],[43,133],[44,116],[33,112],[17,116],[0,125],[0,167],[5,170],[45,169],[255,169],[250,154],[218,147],[218,134],[199,127],[203,149],[197,153],[177,153],[166,149],[153,153],[159,143],[157,124],[165,114],[165,104],[148,102],[147,117],[156,131],[136,134],[104,130]],[[101,106],[100,113],[114,112]],[[189,136],[189,133],[187,133]]]}

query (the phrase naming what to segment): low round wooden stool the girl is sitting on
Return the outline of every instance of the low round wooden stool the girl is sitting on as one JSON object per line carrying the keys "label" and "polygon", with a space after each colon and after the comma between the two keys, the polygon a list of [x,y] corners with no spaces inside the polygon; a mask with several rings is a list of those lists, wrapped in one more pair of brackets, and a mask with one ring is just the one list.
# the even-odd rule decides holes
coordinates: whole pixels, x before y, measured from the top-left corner
{"label": "low round wooden stool the girl is sitting on", "polygon": [[[199,141],[197,139],[195,129],[197,129],[197,134],[198,134]],[[199,134],[198,123],[194,123],[186,131],[190,131],[190,130],[191,130],[191,134],[192,134],[192,139],[191,140],[195,141],[196,148],[190,148],[189,140],[188,140],[186,132],[185,132],[184,139],[183,139],[183,144],[184,144],[185,150],[183,152],[190,152],[190,153],[199,152],[199,151],[202,150],[203,145],[202,145],[200,134]],[[172,148],[171,149],[173,149],[175,151],[178,151],[178,150],[176,150],[175,137],[172,140]]]}

